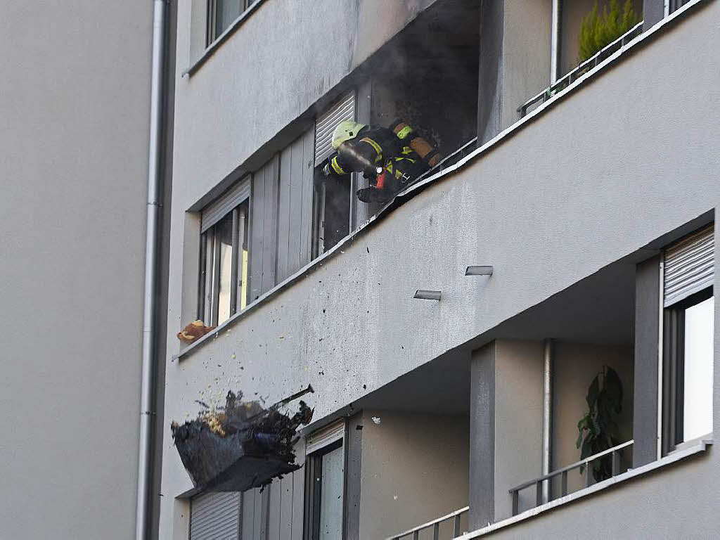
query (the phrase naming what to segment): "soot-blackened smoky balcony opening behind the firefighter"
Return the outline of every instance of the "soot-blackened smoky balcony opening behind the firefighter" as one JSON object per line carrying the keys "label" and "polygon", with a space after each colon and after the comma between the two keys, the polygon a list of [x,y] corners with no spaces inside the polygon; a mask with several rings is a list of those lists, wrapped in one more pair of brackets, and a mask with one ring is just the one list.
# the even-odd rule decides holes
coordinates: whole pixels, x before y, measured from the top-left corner
{"label": "soot-blackened smoky balcony opening behind the firefighter", "polygon": [[480,2],[440,0],[372,61],[372,125],[403,120],[444,156],[477,135]]}

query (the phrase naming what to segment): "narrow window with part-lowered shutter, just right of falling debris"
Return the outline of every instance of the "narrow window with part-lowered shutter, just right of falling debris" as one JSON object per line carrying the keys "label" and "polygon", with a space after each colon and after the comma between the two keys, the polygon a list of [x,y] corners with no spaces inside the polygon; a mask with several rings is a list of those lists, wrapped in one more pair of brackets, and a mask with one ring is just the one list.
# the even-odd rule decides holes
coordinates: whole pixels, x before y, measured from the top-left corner
{"label": "narrow window with part-lowered shutter, just right of falling debris", "polygon": [[345,423],[334,423],[307,438],[305,458],[305,540],[344,537]]}

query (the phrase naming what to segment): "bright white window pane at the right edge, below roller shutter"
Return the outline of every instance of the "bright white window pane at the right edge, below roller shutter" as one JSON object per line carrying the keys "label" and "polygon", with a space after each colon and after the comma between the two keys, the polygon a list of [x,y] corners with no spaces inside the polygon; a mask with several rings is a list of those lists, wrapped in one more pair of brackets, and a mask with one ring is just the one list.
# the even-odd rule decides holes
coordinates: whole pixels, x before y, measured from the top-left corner
{"label": "bright white window pane at the right edge, below roller shutter", "polygon": [[685,310],[683,439],[713,431],[714,297]]}

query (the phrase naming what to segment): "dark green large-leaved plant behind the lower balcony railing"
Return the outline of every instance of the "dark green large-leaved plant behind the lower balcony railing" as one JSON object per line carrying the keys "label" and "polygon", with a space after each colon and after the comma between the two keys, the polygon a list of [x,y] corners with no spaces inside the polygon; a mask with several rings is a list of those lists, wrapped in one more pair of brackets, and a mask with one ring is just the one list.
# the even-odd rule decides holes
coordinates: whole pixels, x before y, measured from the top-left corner
{"label": "dark green large-leaved plant behind the lower balcony railing", "polygon": [[[623,410],[623,384],[617,372],[603,366],[603,371],[595,375],[585,397],[588,412],[577,423],[577,448],[581,449],[580,459],[598,454],[603,450],[617,446],[617,416]],[[595,459],[590,467],[593,469],[595,482],[606,480],[613,475],[612,455],[608,454]],[[585,467],[580,467],[580,473]]]}

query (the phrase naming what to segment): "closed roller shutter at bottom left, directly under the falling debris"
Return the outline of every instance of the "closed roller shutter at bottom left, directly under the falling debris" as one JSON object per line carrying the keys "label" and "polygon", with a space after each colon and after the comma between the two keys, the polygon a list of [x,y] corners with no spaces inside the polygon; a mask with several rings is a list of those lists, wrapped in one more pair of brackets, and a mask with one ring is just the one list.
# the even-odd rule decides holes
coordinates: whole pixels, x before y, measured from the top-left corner
{"label": "closed roller shutter at bottom left, directly under the falling debris", "polygon": [[190,502],[190,540],[238,540],[239,492],[203,493]]}

